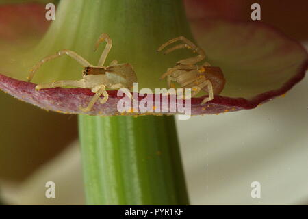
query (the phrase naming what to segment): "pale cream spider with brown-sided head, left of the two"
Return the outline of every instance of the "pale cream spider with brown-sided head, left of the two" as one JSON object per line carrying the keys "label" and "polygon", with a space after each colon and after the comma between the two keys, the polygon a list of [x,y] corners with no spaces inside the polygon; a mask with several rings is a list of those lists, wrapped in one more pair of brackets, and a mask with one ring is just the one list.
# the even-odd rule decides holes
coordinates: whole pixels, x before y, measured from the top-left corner
{"label": "pale cream spider with brown-sided head, left of the two", "polygon": [[[106,57],[112,48],[112,40],[111,38],[103,33],[99,36],[97,43],[95,44],[94,51],[97,50],[99,44],[105,41],[107,44],[101,57],[99,59],[99,63],[97,66],[92,66],[87,60],[83,57],[75,53],[74,51],[70,51],[67,49],[61,50],[53,55],[49,55],[44,57],[36,66],[31,69],[31,74],[27,77],[27,81],[31,81],[36,73],[36,70],[40,68],[42,64],[48,62],[50,60],[55,59],[56,57],[60,57],[62,55],[68,55],[72,57],[74,60],[79,62],[84,67],[83,75],[81,80],[79,81],[55,81],[53,83],[42,83],[36,86],[36,90],[44,89],[44,88],[56,88],[60,86],[74,86],[79,88],[90,88],[94,93],[94,96],[88,103],[86,108],[82,108],[81,110],[84,112],[89,112],[94,103],[99,99],[100,103],[103,104],[108,99],[107,89],[120,89],[120,88],[128,88],[131,89],[133,86],[133,82],[137,82],[136,73],[133,70],[131,64],[118,64],[118,61],[114,60],[110,63],[109,66],[104,66]],[[103,94],[103,99],[100,98],[101,94]],[[131,93],[127,92],[127,96],[131,97]]]}

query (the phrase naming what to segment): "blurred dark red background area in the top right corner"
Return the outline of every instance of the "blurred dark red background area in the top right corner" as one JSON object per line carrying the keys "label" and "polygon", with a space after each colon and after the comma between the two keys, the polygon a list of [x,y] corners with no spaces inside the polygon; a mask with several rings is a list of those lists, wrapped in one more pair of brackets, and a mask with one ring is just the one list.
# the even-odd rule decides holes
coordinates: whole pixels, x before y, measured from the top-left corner
{"label": "blurred dark red background area in the top right corner", "polygon": [[189,20],[227,18],[251,21],[251,5],[261,5],[261,21],[297,40],[308,39],[307,0],[184,0]]}

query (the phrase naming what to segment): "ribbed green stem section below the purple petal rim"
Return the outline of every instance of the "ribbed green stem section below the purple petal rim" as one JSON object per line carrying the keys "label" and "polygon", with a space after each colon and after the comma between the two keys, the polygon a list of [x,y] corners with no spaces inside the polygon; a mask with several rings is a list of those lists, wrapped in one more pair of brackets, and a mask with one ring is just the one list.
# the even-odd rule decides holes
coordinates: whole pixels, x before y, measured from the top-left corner
{"label": "ribbed green stem section below the purple petal rim", "polygon": [[90,205],[188,205],[173,116],[79,116]]}

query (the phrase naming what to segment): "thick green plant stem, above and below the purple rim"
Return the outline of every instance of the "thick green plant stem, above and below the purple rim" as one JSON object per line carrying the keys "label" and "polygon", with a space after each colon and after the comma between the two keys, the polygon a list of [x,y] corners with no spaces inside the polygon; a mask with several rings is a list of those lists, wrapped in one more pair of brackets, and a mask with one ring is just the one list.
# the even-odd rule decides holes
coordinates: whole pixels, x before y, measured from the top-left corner
{"label": "thick green plant stem, above and below the purple rim", "polygon": [[[64,0],[21,72],[62,49],[96,64],[103,46],[93,52],[94,42],[102,33],[113,43],[106,65],[130,63],[140,89],[166,87],[160,75],[187,57],[183,50],[156,53],[159,45],[177,36],[192,38],[179,0]],[[44,64],[34,82],[79,80],[81,70],[75,60],[62,57]],[[79,116],[79,132],[88,204],[188,204],[172,117]]]}

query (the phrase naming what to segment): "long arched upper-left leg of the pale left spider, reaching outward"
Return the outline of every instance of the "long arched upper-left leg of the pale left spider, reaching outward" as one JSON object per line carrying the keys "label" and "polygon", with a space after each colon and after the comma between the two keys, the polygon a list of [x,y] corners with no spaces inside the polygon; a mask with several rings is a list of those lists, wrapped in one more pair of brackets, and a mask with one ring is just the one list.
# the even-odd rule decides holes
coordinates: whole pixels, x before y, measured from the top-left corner
{"label": "long arched upper-left leg of the pale left spider, reaching outward", "polygon": [[44,64],[45,62],[48,62],[50,60],[53,60],[56,57],[60,57],[62,55],[68,55],[68,56],[72,57],[74,60],[79,62],[79,64],[81,64],[82,66],[92,66],[92,64],[90,64],[87,60],[85,60],[83,57],[81,57],[80,55],[78,55],[74,51],[64,49],[64,50],[58,51],[57,53],[55,53],[53,55],[49,55],[47,57],[44,57],[44,59],[40,60],[40,62],[38,62],[38,64],[36,64],[33,68],[31,68],[31,70],[30,70],[31,74],[29,75],[29,77],[27,77],[27,81],[29,82],[29,81],[32,80],[32,78],[34,77],[34,74],[36,73],[36,70],[38,70],[38,68],[40,68],[40,66],[42,66],[42,64]]}

